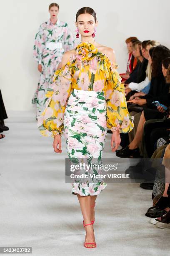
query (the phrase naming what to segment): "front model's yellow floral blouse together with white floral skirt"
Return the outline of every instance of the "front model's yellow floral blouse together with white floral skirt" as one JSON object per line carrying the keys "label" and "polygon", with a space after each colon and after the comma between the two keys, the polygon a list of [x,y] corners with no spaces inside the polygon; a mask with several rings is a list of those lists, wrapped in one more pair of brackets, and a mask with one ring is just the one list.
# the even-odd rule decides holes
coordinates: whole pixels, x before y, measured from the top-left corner
{"label": "front model's yellow floral blouse together with white floral skirt", "polygon": [[[47,90],[48,100],[38,116],[42,136],[64,133],[67,153],[72,162],[102,158],[107,128],[128,133],[133,129],[124,85],[117,65],[90,43],[81,43],[67,64],[56,70],[54,83]],[[86,171],[85,171],[86,172]],[[96,169],[92,172],[97,174]],[[103,181],[75,180],[72,194],[98,195],[107,184]]]}

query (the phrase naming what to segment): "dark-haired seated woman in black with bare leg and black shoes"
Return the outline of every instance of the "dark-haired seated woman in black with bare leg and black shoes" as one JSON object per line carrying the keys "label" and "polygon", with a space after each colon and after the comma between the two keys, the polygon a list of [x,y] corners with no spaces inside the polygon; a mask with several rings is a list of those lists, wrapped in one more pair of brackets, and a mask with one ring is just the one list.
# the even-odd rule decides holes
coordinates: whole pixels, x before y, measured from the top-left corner
{"label": "dark-haired seated woman in black with bare leg and black shoes", "polygon": [[[146,120],[149,119],[155,119],[158,116],[160,117],[159,111],[153,111],[151,108],[155,108],[155,105],[153,105],[153,101],[159,101],[161,104],[164,104],[164,100],[167,98],[167,94],[169,92],[170,84],[166,83],[165,77],[167,73],[167,69],[162,64],[163,59],[170,57],[170,49],[167,47],[160,45],[156,46],[153,50],[153,58],[152,58],[152,79],[151,79],[151,85],[150,85],[150,91],[148,95],[142,96],[145,98],[136,100],[136,103],[139,105],[146,104],[148,108],[144,108],[141,116],[140,121],[138,124],[138,128],[135,134],[135,138],[133,141],[126,146],[125,148],[119,150],[116,152],[116,156],[119,157],[140,157],[140,151],[139,151],[139,143],[142,140],[143,136],[143,125]],[[164,62],[163,62],[164,63]]]}

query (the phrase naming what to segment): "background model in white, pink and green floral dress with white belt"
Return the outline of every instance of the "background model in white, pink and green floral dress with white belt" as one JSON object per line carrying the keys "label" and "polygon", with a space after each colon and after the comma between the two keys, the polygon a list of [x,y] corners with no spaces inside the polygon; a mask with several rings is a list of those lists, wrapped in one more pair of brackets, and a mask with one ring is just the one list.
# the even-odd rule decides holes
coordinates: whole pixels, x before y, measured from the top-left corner
{"label": "background model in white, pink and green floral dress with white belt", "polygon": [[52,84],[54,72],[62,60],[64,52],[74,48],[74,38],[68,25],[57,18],[59,5],[49,6],[50,19],[40,25],[35,36],[34,57],[38,64],[40,81],[32,98],[37,106],[37,115],[45,109],[47,87]]}

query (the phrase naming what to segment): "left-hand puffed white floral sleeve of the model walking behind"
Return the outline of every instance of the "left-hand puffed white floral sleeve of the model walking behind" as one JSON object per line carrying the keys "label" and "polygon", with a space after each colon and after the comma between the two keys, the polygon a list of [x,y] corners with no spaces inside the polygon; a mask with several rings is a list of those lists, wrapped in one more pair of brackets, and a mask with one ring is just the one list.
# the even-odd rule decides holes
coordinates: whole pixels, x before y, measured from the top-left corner
{"label": "left-hand puffed white floral sleeve of the model walking behind", "polygon": [[45,35],[43,33],[42,26],[40,26],[39,31],[35,35],[34,51],[33,51],[33,56],[35,60],[38,62],[38,64],[41,64],[44,48],[45,48]]}

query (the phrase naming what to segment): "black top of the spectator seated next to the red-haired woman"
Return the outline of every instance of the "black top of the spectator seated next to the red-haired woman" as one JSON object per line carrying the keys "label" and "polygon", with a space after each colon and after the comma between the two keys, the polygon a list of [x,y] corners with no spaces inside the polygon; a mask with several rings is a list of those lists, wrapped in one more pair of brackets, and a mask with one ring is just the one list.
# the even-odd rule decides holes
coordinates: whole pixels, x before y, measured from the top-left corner
{"label": "black top of the spectator seated next to the red-haired woman", "polygon": [[140,83],[146,78],[146,69],[148,66],[148,60],[143,59],[142,62],[138,60],[137,65],[133,72],[130,74],[130,77],[126,80],[126,84],[130,84],[131,82]]}

